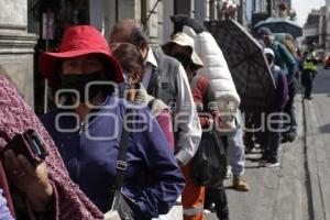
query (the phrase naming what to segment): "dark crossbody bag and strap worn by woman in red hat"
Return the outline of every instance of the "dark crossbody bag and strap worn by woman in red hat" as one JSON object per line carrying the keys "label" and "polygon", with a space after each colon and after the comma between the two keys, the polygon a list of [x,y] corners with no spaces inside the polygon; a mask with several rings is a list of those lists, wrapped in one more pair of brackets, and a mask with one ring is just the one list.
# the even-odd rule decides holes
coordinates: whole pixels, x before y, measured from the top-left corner
{"label": "dark crossbody bag and strap worn by woman in red hat", "polygon": [[[128,108],[125,117],[131,112],[132,109]],[[124,119],[116,165],[116,183],[111,188],[111,209],[105,213],[105,220],[142,220],[142,212],[136,202],[122,193],[124,173],[128,166],[127,152],[130,138],[130,132],[125,129],[125,122],[127,120]]]}

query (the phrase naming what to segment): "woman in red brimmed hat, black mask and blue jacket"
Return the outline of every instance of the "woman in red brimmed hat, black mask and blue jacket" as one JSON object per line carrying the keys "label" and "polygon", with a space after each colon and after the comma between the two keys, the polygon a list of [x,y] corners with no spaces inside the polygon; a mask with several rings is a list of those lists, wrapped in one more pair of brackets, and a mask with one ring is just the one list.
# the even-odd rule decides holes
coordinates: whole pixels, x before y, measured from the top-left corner
{"label": "woman in red brimmed hat, black mask and blue jacket", "polygon": [[183,191],[184,177],[146,107],[116,96],[122,72],[99,31],[89,25],[67,29],[59,52],[42,54],[40,68],[59,89],[57,108],[43,116],[42,122],[70,178],[101,211],[108,211],[125,130],[122,194],[134,201],[134,219],[166,213]]}

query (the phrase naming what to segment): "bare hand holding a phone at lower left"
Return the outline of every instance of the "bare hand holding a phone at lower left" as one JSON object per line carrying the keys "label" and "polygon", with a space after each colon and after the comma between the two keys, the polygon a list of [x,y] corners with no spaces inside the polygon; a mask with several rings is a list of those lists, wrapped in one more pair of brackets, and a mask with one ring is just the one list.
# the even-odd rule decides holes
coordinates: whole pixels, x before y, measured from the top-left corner
{"label": "bare hand holding a phone at lower left", "polygon": [[7,176],[26,196],[33,211],[45,211],[53,196],[46,164],[34,167],[23,155],[16,156],[8,150],[4,153],[4,167]]}

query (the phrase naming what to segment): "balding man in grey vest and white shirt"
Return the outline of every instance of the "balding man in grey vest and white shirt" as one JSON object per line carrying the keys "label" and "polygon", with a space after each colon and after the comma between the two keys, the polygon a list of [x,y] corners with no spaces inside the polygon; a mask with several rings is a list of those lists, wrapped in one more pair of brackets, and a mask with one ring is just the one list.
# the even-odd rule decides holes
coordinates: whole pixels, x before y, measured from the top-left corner
{"label": "balding man in grey vest and white shirt", "polygon": [[189,81],[178,61],[151,48],[144,26],[133,19],[119,21],[112,29],[110,43],[134,44],[144,58],[142,84],[151,96],[164,101],[174,112],[175,157],[179,166],[195,155],[201,128]]}

